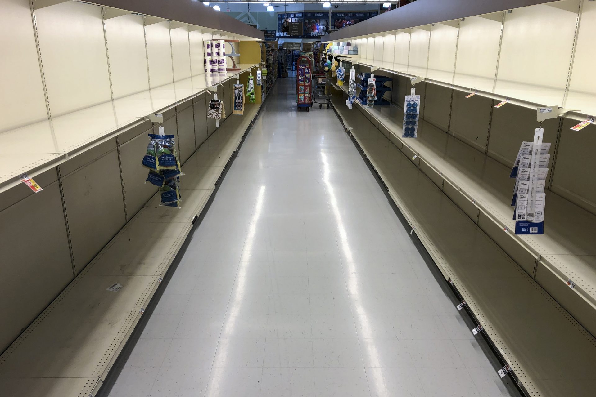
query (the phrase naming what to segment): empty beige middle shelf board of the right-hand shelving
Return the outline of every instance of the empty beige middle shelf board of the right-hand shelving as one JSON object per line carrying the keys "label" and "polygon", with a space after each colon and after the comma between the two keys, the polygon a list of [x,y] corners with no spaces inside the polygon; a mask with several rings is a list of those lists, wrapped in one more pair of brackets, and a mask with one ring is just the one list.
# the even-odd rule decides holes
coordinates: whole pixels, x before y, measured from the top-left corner
{"label": "empty beige middle shelf board of the right-hand shelving", "polygon": [[[346,86],[342,86],[346,90]],[[356,105],[359,106],[359,105]],[[547,193],[547,221],[542,236],[519,236],[513,221],[511,193],[514,179],[510,168],[480,154],[461,140],[449,136],[432,124],[420,120],[418,138],[402,137],[403,111],[395,105],[361,107],[380,126],[392,134],[392,140],[408,146],[420,162],[451,184],[476,208],[486,214],[514,243],[528,251],[567,282],[579,287],[575,293],[596,310],[596,245],[586,236],[596,235],[596,216],[554,193]],[[505,233],[505,232],[504,232]],[[552,255],[559,260],[550,261]]]}

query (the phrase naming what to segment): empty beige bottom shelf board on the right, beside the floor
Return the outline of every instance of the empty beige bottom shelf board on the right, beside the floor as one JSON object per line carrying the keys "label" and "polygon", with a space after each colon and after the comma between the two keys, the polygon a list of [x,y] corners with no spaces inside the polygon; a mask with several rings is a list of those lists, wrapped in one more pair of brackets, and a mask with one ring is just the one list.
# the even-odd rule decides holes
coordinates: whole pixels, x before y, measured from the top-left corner
{"label": "empty beige bottom shelf board on the right, beside the floor", "polygon": [[333,102],[414,232],[464,297],[528,395],[590,395],[596,339],[361,112],[347,110],[337,96]]}

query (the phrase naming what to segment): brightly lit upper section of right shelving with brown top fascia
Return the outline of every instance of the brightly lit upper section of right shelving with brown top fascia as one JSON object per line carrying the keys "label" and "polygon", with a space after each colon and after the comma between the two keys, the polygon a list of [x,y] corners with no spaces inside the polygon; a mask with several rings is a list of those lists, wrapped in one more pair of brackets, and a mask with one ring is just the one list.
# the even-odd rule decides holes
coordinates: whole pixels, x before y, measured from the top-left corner
{"label": "brightly lit upper section of right shelving with brown top fascia", "polygon": [[[522,107],[560,107],[574,120],[596,114],[596,86],[586,83],[593,80],[588,42],[594,28],[587,21],[596,15],[594,2],[532,0],[526,7],[515,1],[421,3],[325,39],[355,40],[355,62],[373,69]],[[553,31],[558,34],[545,40]],[[557,55],[536,67],[544,54]]]}

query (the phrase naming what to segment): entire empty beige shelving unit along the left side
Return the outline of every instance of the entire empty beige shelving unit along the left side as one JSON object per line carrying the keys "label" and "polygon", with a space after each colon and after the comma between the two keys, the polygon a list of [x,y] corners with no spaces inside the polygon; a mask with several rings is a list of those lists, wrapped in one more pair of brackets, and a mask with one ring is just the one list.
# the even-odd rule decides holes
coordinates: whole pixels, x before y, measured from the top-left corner
{"label": "entire empty beige shelving unit along the left side", "polygon": [[[0,138],[10,143],[0,151],[0,276],[11,283],[0,303],[0,389],[87,396],[260,106],[259,96],[231,116],[232,83],[254,74],[264,35],[200,2],[6,0],[0,14],[11,16],[1,28],[11,61],[0,65]],[[238,40],[240,70],[204,74],[204,40]],[[219,130],[207,118],[215,94],[226,108]],[[181,210],[156,207],[157,187],[144,183],[147,134],[160,126],[186,168]],[[21,173],[43,190],[20,183]],[[24,241],[38,254],[14,249]],[[114,246],[126,251],[110,257]],[[108,257],[113,267],[103,268]],[[103,295],[111,277],[128,287]]]}

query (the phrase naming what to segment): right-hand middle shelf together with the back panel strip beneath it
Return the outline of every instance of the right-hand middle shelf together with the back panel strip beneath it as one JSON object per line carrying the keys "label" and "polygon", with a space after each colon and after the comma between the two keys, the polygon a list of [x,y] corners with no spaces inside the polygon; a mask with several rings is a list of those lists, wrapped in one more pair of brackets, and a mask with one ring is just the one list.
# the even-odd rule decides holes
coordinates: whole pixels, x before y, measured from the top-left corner
{"label": "right-hand middle shelf together with the back panel strip beneath it", "polygon": [[[346,92],[344,86],[335,86]],[[468,214],[531,277],[586,329],[596,334],[596,248],[586,236],[596,233],[596,216],[547,192],[544,235],[515,235],[510,167],[480,154],[455,136],[420,120],[418,139],[402,137],[403,110],[359,107],[387,137]],[[427,110],[428,111],[428,110]],[[495,227],[496,226],[496,227]],[[567,287],[572,280],[575,287]]]}

